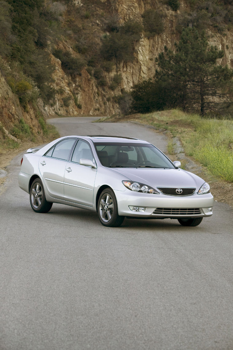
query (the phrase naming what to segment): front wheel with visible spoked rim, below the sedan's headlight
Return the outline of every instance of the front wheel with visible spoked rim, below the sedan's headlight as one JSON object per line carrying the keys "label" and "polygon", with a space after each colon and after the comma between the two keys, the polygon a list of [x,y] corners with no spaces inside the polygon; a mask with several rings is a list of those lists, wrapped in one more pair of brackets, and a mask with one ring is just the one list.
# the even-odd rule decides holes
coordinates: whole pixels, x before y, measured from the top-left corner
{"label": "front wheel with visible spoked rim, below the sedan's headlight", "polygon": [[105,188],[99,197],[97,211],[100,222],[104,226],[118,227],[124,221],[124,216],[118,215],[116,196],[111,188]]}

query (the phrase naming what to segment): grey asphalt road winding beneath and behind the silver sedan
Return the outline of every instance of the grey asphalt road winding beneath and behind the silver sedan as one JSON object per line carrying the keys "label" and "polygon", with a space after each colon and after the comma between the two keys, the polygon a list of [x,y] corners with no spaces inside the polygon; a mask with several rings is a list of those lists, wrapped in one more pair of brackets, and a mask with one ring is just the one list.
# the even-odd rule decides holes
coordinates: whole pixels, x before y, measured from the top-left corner
{"label": "grey asphalt road winding beneath and behind the silver sedan", "polygon": [[[50,120],[62,135],[166,139],[149,128]],[[194,228],[54,204],[37,214],[17,183],[21,155],[0,196],[0,350],[232,350],[233,211]]]}

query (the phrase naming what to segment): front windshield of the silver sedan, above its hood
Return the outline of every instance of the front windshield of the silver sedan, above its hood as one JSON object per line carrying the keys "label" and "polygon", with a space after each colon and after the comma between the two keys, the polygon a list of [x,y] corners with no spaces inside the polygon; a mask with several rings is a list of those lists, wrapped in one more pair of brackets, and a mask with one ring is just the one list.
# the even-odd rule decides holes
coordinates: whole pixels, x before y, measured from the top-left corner
{"label": "front windshield of the silver sedan, above its hood", "polygon": [[172,162],[151,144],[95,143],[103,166],[114,168],[174,168]]}

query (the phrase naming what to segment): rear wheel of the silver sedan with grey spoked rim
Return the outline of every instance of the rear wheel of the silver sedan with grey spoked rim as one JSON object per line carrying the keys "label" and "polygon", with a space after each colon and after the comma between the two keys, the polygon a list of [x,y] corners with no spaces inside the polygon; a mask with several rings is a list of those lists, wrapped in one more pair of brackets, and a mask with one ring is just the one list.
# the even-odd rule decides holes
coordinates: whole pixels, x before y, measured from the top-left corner
{"label": "rear wheel of the silver sedan with grey spoked rim", "polygon": [[30,188],[30,204],[32,209],[37,213],[47,213],[53,203],[47,202],[41,179],[37,177]]}

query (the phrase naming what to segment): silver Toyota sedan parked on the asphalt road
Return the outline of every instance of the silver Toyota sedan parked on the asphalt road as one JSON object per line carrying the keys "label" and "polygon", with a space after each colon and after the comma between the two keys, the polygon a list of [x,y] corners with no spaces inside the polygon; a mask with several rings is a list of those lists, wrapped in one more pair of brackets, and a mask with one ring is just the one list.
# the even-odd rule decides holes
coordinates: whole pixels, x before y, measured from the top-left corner
{"label": "silver Toyota sedan parked on the asphalt road", "polygon": [[210,186],[179,167],[143,140],[67,136],[28,149],[18,180],[35,212],[62,203],[97,211],[104,226],[119,226],[124,217],[197,226],[213,214]]}

